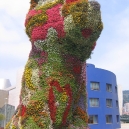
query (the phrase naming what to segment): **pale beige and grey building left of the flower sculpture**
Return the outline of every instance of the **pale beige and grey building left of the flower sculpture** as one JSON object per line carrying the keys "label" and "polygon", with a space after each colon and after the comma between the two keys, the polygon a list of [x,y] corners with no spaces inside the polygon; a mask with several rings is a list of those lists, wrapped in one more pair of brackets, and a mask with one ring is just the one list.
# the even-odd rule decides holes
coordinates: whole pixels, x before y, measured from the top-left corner
{"label": "pale beige and grey building left of the flower sculpture", "polygon": [[0,114],[5,119],[0,121],[0,128],[4,128],[13,116],[20,101],[21,79],[23,69],[17,72],[16,86],[11,86],[9,79],[0,79]]}

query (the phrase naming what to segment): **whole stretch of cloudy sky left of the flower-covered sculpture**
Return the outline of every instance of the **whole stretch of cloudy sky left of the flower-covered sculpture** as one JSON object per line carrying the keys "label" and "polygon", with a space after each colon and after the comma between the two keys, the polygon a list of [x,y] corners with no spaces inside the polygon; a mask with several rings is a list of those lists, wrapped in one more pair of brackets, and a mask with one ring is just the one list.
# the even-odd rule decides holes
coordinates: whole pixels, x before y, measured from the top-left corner
{"label": "whole stretch of cloudy sky left of the flower-covered sculpture", "polygon": [[12,84],[15,84],[17,70],[24,67],[22,65],[27,60],[31,47],[24,32],[29,2],[30,0],[0,1],[0,78],[10,79]]}

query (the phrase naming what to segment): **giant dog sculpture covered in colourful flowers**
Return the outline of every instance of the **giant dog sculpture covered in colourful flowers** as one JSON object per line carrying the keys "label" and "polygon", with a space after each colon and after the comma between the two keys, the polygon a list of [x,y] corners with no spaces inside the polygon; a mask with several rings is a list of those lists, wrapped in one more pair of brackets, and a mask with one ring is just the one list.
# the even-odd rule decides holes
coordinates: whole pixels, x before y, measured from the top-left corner
{"label": "giant dog sculpture covered in colourful flowers", "polygon": [[25,27],[32,49],[6,129],[86,129],[85,60],[103,28],[100,5],[31,0]]}

